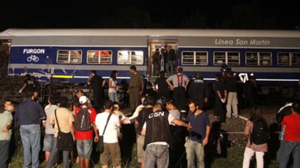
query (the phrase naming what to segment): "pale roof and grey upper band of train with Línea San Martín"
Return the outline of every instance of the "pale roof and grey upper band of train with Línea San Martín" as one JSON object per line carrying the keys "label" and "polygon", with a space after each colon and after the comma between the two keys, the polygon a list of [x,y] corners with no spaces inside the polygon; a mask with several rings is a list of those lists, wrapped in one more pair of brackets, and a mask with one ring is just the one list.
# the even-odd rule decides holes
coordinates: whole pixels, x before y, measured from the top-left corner
{"label": "pale roof and grey upper band of train with L\u00ednea San Mart\u00edn", "polygon": [[148,40],[178,47],[300,48],[299,30],[222,29],[7,29],[12,46],[147,47]]}

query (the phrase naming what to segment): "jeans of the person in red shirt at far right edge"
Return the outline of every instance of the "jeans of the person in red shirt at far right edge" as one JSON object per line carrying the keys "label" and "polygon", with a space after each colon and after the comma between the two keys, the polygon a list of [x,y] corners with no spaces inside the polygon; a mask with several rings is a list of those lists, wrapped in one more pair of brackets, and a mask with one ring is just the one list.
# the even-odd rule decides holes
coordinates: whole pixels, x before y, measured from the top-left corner
{"label": "jeans of the person in red shirt at far right edge", "polygon": [[283,140],[280,154],[280,168],[286,168],[290,155],[293,155],[293,168],[300,167],[300,141],[290,142]]}

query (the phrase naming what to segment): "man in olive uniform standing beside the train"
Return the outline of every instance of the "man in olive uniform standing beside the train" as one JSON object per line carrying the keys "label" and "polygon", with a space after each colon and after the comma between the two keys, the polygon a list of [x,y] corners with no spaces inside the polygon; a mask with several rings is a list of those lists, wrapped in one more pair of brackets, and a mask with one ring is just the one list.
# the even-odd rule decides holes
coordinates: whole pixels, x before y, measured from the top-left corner
{"label": "man in olive uniform standing beside the train", "polygon": [[131,74],[128,87],[129,103],[130,109],[133,111],[141,104],[141,94],[143,93],[144,82],[142,74],[136,71],[135,66],[131,66],[129,72]]}

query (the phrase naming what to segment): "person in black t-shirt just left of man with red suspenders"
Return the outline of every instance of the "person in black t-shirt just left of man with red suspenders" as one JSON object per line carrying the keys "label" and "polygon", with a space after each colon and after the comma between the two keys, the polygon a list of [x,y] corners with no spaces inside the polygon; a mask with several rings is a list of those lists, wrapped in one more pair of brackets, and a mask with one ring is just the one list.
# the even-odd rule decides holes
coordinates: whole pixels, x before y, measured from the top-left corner
{"label": "person in black t-shirt just left of man with red suspenders", "polygon": [[158,98],[164,97],[167,100],[168,98],[170,98],[170,91],[166,79],[167,78],[165,77],[165,72],[160,71],[160,77],[157,78],[153,84],[154,84],[154,90],[158,94]]}

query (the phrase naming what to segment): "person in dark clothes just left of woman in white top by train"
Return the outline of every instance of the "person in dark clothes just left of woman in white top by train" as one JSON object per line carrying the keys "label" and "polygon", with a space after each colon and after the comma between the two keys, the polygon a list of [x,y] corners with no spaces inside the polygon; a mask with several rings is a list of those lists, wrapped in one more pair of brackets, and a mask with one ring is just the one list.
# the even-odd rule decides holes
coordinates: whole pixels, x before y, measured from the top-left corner
{"label": "person in dark clothes just left of woman in white top by train", "polygon": [[97,75],[97,72],[95,70],[91,71],[91,74],[88,78],[88,85],[91,86],[91,89],[93,89],[93,107],[97,112],[99,112],[99,108],[101,107],[101,99],[104,99],[103,96],[103,87],[105,85],[105,80]]}

